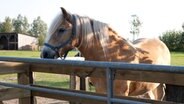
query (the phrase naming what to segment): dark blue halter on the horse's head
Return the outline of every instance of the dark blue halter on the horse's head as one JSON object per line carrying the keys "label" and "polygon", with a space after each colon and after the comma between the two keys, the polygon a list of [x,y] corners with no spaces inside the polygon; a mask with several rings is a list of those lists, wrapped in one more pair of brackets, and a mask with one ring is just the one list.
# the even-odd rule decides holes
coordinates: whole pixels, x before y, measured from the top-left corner
{"label": "dark blue halter on the horse's head", "polygon": [[[59,44],[58,46],[53,46],[49,43],[44,43],[44,46],[47,46],[50,49],[52,49],[53,51],[55,51],[58,57],[59,57],[59,49],[66,46],[68,43],[70,43],[72,41],[72,38],[76,35],[76,28],[75,28],[75,26],[76,26],[76,17],[75,17],[75,15],[72,15],[72,19],[73,19],[72,20],[72,26],[74,26],[72,28],[72,34],[70,35],[70,37],[65,42],[63,42],[62,44]],[[64,59],[66,58],[69,51],[70,50],[67,50],[65,52],[65,54],[63,56]]]}

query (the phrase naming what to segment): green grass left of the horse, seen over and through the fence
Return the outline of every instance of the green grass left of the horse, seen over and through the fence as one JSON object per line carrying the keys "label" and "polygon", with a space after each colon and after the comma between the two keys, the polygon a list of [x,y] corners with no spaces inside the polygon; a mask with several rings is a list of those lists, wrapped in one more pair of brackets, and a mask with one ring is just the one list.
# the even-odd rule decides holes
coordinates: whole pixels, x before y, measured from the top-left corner
{"label": "green grass left of the horse, seen over and through the fence", "polygon": [[[77,52],[71,51],[68,56],[74,56]],[[40,51],[0,51],[0,56],[40,58]],[[69,76],[50,73],[35,73],[35,84],[49,87],[69,88]],[[16,74],[0,75],[0,81],[17,83]]]}

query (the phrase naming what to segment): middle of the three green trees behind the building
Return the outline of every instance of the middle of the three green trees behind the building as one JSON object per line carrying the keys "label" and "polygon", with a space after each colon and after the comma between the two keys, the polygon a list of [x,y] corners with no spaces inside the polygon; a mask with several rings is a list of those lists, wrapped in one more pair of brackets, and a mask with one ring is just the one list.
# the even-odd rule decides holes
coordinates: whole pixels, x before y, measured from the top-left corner
{"label": "middle of the three green trees behind the building", "polygon": [[29,23],[27,17],[23,17],[20,14],[16,19],[13,19],[14,32],[27,34],[29,29]]}

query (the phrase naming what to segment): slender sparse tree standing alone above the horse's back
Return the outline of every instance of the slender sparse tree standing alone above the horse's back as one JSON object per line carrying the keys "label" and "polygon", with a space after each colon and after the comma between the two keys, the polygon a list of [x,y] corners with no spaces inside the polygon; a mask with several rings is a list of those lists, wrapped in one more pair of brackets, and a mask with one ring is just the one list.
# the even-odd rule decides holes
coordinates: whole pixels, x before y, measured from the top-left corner
{"label": "slender sparse tree standing alone above the horse's back", "polygon": [[139,17],[137,15],[131,15],[131,30],[130,33],[133,35],[133,41],[136,39],[136,37],[139,36],[140,33],[140,27],[142,25],[141,21],[139,20]]}

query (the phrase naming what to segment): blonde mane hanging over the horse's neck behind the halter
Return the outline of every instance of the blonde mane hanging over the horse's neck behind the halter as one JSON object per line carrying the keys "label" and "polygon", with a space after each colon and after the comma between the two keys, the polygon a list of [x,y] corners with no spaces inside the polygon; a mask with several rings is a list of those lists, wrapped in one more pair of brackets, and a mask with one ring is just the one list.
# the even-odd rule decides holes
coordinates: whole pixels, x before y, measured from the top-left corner
{"label": "blonde mane hanging over the horse's neck behind the halter", "polygon": [[90,45],[95,45],[96,43],[94,40],[97,40],[101,44],[104,55],[106,57],[108,53],[106,46],[107,43],[109,42],[109,35],[108,35],[109,26],[105,23],[96,21],[89,17],[79,17],[79,16],[76,17],[80,21],[77,22],[78,28],[79,26],[81,26],[81,35],[82,35],[81,44],[86,45],[85,47],[88,47]]}

